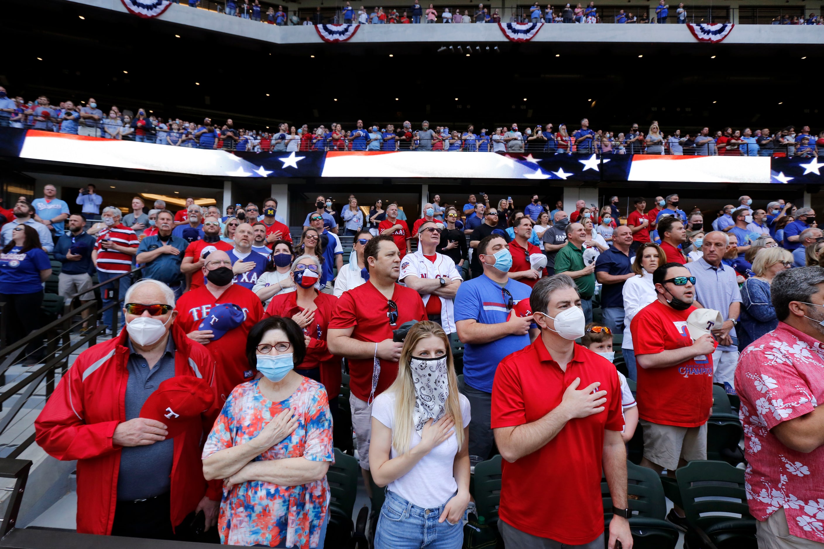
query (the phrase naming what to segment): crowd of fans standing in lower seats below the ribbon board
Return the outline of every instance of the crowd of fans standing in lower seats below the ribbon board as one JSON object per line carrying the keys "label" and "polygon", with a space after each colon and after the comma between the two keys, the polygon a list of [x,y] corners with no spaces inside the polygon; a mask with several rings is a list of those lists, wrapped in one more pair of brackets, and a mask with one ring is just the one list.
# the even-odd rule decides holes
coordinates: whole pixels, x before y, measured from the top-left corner
{"label": "crowd of fans standing in lower seats below the ribbon board", "polygon": [[[435,195],[410,228],[396,203],[350,196],[336,210],[319,196],[291,235],[274,198],[226,212],[134,198],[87,229],[94,197],[83,189],[83,214],[70,214],[47,185],[0,211],[16,337],[37,328],[47,254],[63,264],[59,291],[81,302],[95,299],[92,274],[143,267],[140,281],[109,282],[124,328],[78,356],[36,422],[41,447],[78,460],[78,532],[185,538],[200,520],[224,543],[323,547],[333,426],[348,413],[364,481],[387,487],[376,547],[424,533],[461,547],[471,466],[500,454],[508,545],[604,547],[603,473],[606,536],[629,549],[625,442],[642,426],[642,465],[670,476],[706,459],[719,384],[741,398],[759,538],[824,541],[803,528],[817,520],[804,505],[784,517],[756,488],[787,484],[780,459],[824,456],[809,419],[824,387],[811,208],[742,196],[705,219],[677,194],[651,208],[635,198],[633,212],[617,197],[566,212],[539,195]],[[345,263],[339,234],[353,236]],[[612,364],[619,334],[626,375]],[[451,337],[465,346],[461,383]],[[345,411],[330,405],[343,364]],[[793,478],[793,494],[814,500],[814,482]],[[545,486],[577,497],[558,508]],[[678,507],[667,520],[686,529]]]}

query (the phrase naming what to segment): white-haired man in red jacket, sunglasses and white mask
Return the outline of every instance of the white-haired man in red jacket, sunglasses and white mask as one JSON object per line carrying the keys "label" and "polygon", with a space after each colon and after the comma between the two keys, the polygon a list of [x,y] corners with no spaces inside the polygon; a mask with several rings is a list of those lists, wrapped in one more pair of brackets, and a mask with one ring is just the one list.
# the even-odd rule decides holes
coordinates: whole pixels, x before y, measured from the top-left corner
{"label": "white-haired man in red jacket, sunglasses and white mask", "polygon": [[[54,458],[77,459],[78,533],[171,539],[201,510],[211,528],[221,484],[206,482],[200,453],[221,406],[214,359],[172,323],[169,286],[139,281],[125,304],[125,329],[83,351],[60,379],[35,421],[37,444]],[[167,438],[166,424],[140,415],[158,385],[176,376],[208,381],[213,404]]]}

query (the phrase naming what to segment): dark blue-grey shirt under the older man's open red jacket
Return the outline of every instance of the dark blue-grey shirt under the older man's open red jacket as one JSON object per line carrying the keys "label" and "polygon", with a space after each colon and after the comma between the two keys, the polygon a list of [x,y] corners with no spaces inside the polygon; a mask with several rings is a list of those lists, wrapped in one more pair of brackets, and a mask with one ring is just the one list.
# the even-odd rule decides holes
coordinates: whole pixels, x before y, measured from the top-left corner
{"label": "dark blue-grey shirt under the older man's open red jacket", "polygon": [[[143,239],[146,240],[146,239]],[[175,342],[169,337],[166,351],[149,370],[146,359],[129,340],[129,379],[126,382],[126,421],[140,416],[149,395],[162,381],[175,375]],[[120,472],[117,477],[119,501],[143,500],[171,490],[171,466],[175,457],[175,440],[160,440],[147,446],[120,449]]]}

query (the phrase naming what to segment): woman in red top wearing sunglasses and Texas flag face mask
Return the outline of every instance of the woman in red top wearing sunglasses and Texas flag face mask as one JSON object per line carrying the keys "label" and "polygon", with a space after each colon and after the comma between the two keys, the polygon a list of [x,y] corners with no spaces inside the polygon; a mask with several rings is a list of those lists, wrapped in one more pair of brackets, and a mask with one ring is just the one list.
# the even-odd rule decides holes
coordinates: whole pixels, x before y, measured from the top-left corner
{"label": "woman in red top wearing sunglasses and Texas flag face mask", "polygon": [[[334,401],[340,391],[340,359],[329,352],[326,332],[338,298],[317,290],[320,269],[320,262],[314,256],[302,255],[295,259],[289,272],[294,289],[275,295],[269,301],[264,317],[282,316],[297,323],[303,331],[307,355],[295,365],[295,371],[324,384],[330,401]],[[333,417],[335,412],[337,407],[333,407]]]}

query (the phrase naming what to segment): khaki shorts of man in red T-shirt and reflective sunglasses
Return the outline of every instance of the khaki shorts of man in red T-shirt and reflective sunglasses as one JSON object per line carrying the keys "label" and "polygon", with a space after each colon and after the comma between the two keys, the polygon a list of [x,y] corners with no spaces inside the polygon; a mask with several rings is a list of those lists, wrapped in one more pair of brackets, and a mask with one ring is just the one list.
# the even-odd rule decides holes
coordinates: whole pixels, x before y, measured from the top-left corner
{"label": "khaki shorts of man in red T-shirt and reflective sunglasses", "polygon": [[678,468],[678,459],[685,461],[707,458],[707,424],[700,427],[659,425],[639,420],[644,427],[644,458],[667,471]]}

